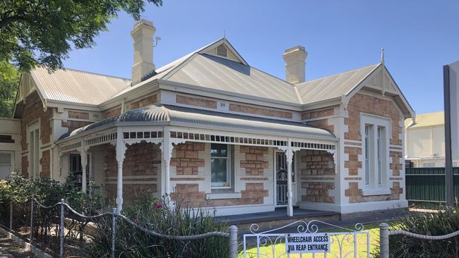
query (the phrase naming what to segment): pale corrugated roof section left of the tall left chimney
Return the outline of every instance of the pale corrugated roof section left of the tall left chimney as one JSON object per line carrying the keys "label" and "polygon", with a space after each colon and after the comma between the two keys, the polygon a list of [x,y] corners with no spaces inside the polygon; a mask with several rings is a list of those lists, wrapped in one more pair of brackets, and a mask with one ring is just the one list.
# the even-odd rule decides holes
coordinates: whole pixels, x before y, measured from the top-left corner
{"label": "pale corrugated roof section left of the tall left chimney", "polygon": [[131,85],[129,79],[67,68],[48,73],[37,67],[30,74],[44,99],[78,104],[100,104]]}

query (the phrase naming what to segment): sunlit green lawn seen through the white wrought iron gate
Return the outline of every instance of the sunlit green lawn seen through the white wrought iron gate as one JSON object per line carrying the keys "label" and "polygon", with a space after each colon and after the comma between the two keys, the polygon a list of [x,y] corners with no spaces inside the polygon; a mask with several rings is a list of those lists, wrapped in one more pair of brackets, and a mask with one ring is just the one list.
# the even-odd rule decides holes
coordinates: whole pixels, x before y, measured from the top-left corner
{"label": "sunlit green lawn seen through the white wrought iron gate", "polygon": [[[349,229],[353,229],[352,227],[346,227]],[[374,253],[376,250],[378,250],[379,247],[379,223],[371,223],[371,224],[366,224],[364,231],[369,232],[369,244],[370,244],[370,254]],[[327,231],[321,231],[321,232],[346,232],[344,229],[330,229]],[[333,254],[337,254],[338,257],[354,257],[353,251],[354,251],[354,242],[352,239],[352,236],[349,237],[349,235],[337,235],[336,237],[330,238],[333,239],[334,241],[331,242],[331,250],[330,252]],[[343,239],[345,238],[345,239]],[[349,240],[349,241],[348,241]],[[340,255],[340,242],[342,242],[342,255]],[[366,234],[360,234],[357,235],[357,257],[366,257]],[[352,254],[347,253],[352,252]],[[251,258],[251,257],[256,257],[256,247],[252,247],[251,249],[248,249],[246,251],[246,257]],[[283,255],[282,255],[283,254]],[[239,254],[239,257],[244,257],[243,253]],[[260,257],[273,257],[273,247],[271,245],[268,245],[266,247],[260,247]],[[287,257],[287,254],[285,254],[285,243],[282,241],[282,243],[275,245],[275,255],[274,257]],[[296,258],[300,257],[300,254],[290,254],[291,258]],[[302,258],[309,258],[313,257],[312,254],[303,254]],[[323,258],[323,254],[316,254],[315,258]],[[335,257],[334,255],[328,255],[328,257]]]}

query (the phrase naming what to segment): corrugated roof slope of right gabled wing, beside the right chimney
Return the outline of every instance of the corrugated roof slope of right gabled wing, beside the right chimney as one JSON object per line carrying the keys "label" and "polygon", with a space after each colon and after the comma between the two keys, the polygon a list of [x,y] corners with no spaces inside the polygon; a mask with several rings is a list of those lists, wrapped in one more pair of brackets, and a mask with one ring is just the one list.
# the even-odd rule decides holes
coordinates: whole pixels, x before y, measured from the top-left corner
{"label": "corrugated roof slope of right gabled wing, beside the right chimney", "polygon": [[304,104],[333,99],[348,94],[380,65],[381,63],[377,63],[373,66],[299,83],[295,86]]}

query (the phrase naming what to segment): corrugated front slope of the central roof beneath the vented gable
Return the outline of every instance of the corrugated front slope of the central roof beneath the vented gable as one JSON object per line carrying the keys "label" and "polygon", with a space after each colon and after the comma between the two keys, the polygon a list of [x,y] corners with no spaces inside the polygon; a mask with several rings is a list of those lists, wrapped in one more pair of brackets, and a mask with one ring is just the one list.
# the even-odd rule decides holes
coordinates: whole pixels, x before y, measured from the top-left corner
{"label": "corrugated front slope of the central roof beneath the vented gable", "polygon": [[294,85],[243,63],[196,54],[167,80],[298,103]]}

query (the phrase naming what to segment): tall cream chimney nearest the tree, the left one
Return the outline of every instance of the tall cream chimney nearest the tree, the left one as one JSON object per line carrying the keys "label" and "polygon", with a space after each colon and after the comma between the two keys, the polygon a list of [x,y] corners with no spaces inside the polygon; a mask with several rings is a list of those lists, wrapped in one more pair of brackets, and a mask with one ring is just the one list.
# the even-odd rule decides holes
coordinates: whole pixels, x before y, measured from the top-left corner
{"label": "tall cream chimney nearest the tree, the left one", "polygon": [[150,20],[138,20],[131,31],[134,39],[134,64],[132,66],[132,85],[142,81],[145,75],[155,70],[153,63],[153,35],[156,28]]}

